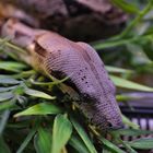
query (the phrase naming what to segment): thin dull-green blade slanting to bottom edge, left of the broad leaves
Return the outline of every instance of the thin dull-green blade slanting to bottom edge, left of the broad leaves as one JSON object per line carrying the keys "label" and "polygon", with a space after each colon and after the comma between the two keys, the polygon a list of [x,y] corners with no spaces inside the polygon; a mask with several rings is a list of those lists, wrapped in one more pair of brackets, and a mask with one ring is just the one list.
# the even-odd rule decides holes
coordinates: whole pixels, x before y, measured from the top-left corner
{"label": "thin dull-green blade slanting to bottom edge, left of the broad leaves", "polygon": [[31,130],[31,132],[27,134],[27,137],[25,138],[23,143],[20,145],[20,148],[16,151],[16,153],[23,153],[23,151],[25,150],[25,148],[27,146],[27,144],[30,143],[30,141],[34,137],[35,132],[36,132],[35,130]]}

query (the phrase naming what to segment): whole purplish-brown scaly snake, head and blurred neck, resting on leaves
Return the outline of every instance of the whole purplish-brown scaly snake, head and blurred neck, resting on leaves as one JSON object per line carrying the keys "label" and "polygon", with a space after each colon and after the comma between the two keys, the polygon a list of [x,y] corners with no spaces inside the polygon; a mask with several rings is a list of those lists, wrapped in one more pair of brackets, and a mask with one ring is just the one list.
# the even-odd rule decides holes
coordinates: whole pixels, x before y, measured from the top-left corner
{"label": "whole purplish-brown scaly snake, head and blurred neck, resting on leaves", "polygon": [[[115,86],[96,51],[85,43],[71,42],[56,33],[32,30],[10,20],[2,35],[28,50],[28,63],[57,78],[70,76],[83,99],[80,109],[101,129],[122,127]],[[24,58],[23,58],[24,60]]]}

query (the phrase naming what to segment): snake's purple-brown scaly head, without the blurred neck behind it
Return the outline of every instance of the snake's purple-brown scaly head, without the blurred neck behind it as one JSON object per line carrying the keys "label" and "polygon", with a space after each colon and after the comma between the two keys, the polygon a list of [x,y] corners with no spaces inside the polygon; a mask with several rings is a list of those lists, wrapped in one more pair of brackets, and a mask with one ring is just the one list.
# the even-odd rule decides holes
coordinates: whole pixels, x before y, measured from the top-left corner
{"label": "snake's purple-brown scaly head, without the blurred neck behind it", "polygon": [[122,128],[116,87],[93,48],[52,33],[44,35],[37,43],[49,50],[44,62],[46,71],[56,76],[70,76],[69,84],[82,97],[79,105],[86,117],[103,130]]}

